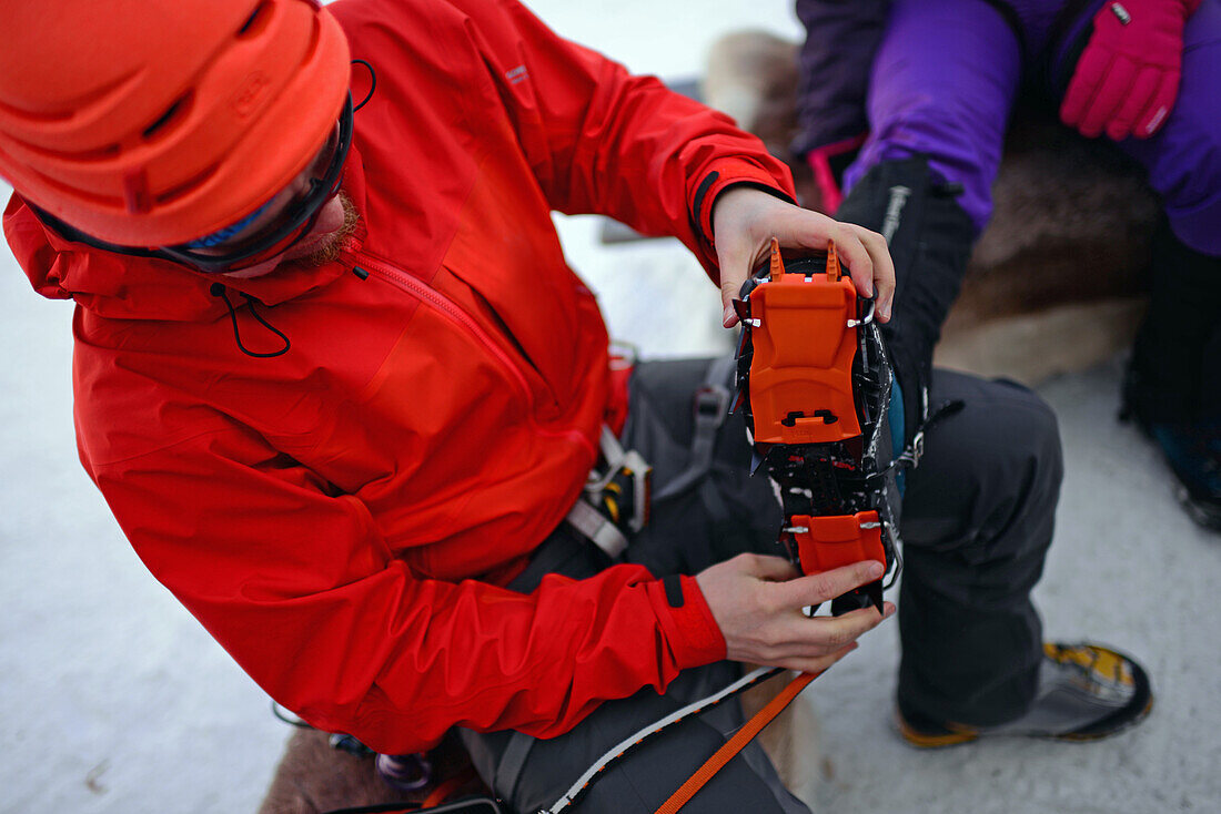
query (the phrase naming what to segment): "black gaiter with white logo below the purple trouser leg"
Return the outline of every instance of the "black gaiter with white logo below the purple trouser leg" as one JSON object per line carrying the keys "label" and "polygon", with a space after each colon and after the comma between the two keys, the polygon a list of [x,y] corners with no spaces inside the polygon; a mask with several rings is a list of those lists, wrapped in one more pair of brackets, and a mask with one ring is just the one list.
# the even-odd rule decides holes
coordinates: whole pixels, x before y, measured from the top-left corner
{"label": "black gaiter with white logo below the purple trouser leg", "polygon": [[958,297],[977,231],[962,189],[933,175],[924,155],[884,161],[844,199],[836,220],[880,232],[895,261],[895,304],[882,326],[904,402],[904,443],[928,417],[933,347]]}

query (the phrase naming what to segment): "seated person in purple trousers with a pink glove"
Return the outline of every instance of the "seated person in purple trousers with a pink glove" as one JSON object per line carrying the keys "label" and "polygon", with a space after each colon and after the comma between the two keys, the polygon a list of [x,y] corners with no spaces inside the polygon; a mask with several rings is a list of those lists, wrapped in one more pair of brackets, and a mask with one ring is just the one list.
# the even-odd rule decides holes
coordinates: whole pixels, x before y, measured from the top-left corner
{"label": "seated person in purple trousers with a pink glove", "polygon": [[[803,155],[895,258],[886,327],[907,434],[1020,88],[1148,171],[1165,217],[1125,408],[1194,520],[1221,530],[1221,0],[797,0]],[[840,184],[840,179],[842,183]],[[846,196],[840,200],[841,188]]]}

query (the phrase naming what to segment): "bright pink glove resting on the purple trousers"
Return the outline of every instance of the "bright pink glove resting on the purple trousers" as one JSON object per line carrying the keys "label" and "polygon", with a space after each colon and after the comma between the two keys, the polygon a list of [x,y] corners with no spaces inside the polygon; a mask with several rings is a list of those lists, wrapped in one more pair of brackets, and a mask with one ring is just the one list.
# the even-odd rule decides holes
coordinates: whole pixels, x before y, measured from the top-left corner
{"label": "bright pink glove resting on the purple trousers", "polygon": [[1083,135],[1149,138],[1178,95],[1183,22],[1200,0],[1115,0],[1094,16],[1094,33],[1060,106]]}

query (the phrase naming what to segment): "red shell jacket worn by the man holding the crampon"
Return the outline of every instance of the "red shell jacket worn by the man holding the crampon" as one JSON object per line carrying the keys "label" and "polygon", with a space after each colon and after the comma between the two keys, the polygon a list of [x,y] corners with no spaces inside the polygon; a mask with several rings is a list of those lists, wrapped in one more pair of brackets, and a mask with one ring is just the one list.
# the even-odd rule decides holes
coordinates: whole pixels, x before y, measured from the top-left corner
{"label": "red shell jacket worn by the man holding the crampon", "polygon": [[[691,578],[676,608],[635,565],[498,587],[623,409],[551,211],[678,236],[716,275],[714,196],[791,181],[726,117],[514,0],[328,9],[377,76],[344,175],[361,227],[337,261],[208,277],[70,243],[20,196],[5,232],[40,293],[77,303],[85,469],[274,698],[387,753],[453,725],[559,735],[725,644]],[[283,344],[255,312],[287,353],[239,349]]]}

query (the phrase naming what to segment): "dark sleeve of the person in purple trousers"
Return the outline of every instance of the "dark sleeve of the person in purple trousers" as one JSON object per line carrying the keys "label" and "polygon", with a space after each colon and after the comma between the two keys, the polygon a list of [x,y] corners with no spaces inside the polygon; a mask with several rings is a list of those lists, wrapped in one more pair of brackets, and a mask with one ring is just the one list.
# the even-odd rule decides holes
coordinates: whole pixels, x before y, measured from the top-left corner
{"label": "dark sleeve of the person in purple trousers", "polygon": [[890,0],[796,0],[806,28],[795,155],[867,133],[866,94]]}

